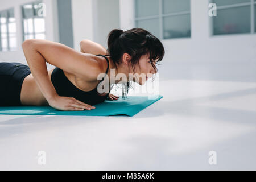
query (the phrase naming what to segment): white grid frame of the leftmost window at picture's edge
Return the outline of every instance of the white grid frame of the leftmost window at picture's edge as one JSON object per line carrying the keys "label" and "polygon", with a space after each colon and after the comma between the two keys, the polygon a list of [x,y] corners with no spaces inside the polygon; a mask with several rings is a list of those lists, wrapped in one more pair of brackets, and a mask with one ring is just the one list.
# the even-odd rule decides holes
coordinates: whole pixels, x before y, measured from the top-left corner
{"label": "white grid frame of the leftmost window at picture's edge", "polygon": [[[9,11],[10,11],[10,10],[13,10],[14,18],[15,18],[14,7],[11,7],[11,8],[9,8],[9,9],[5,9],[5,10],[1,10],[1,11],[0,11],[0,14],[1,14],[1,13],[4,13],[4,12],[6,12],[6,14],[7,14],[6,22],[5,22],[5,23],[1,23],[1,22],[0,22],[0,28],[1,28],[2,24],[6,25],[7,50],[6,50],[6,51],[3,51],[3,49],[2,49],[2,37],[1,37],[2,31],[1,31],[1,29],[0,29],[0,52],[16,51],[16,49],[17,49],[17,47],[15,47],[14,50],[11,50],[11,49],[10,49],[10,42],[9,42],[9,38],[10,38],[9,23],[15,23],[15,24],[16,24],[16,18],[15,18],[15,21],[14,21],[14,22],[9,22],[9,18],[10,18]],[[0,17],[1,17],[1,16],[0,16]],[[17,27],[16,27],[15,36],[16,36],[16,43],[17,43]]]}

